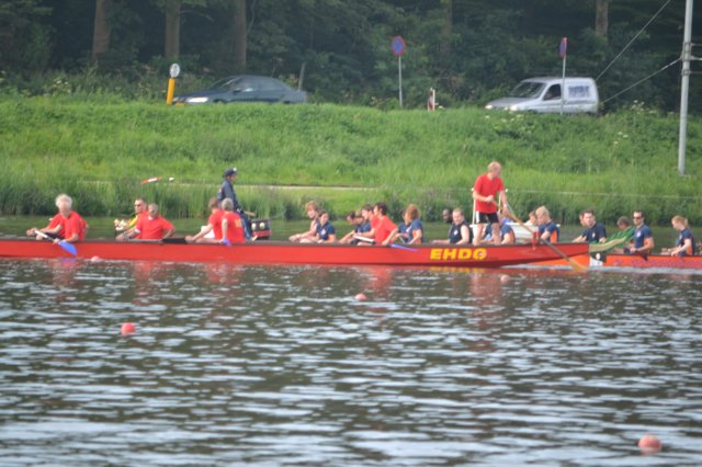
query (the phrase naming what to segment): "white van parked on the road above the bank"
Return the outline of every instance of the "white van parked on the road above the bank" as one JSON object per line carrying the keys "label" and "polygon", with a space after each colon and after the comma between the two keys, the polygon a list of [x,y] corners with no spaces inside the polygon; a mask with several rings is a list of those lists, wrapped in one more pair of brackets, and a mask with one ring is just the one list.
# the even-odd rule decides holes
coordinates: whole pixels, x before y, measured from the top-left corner
{"label": "white van parked on the road above the bank", "polygon": [[[525,79],[507,98],[488,102],[485,109],[505,109],[513,112],[561,113],[563,78],[541,77]],[[592,78],[566,78],[566,100],[563,112],[596,114],[600,104],[597,84]]]}

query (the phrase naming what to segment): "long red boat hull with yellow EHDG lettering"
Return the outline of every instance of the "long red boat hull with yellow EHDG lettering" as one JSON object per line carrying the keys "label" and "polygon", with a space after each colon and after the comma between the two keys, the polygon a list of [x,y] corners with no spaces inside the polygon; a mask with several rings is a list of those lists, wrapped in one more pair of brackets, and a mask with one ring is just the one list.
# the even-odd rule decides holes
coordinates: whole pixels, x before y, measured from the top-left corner
{"label": "long red boat hull with yellow EHDG lettering", "polygon": [[[88,240],[76,244],[77,258],[90,260],[227,262],[236,264],[328,264],[387,266],[501,267],[554,261],[558,257],[545,246],[416,248],[356,247],[342,244],[293,244],[253,242],[233,247]],[[568,257],[587,253],[587,244],[563,243]],[[31,239],[0,240],[0,258],[71,258],[59,246]]]}

